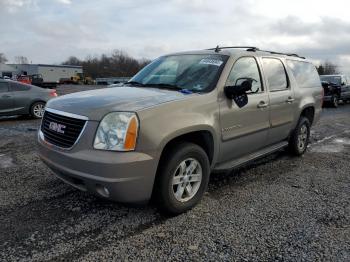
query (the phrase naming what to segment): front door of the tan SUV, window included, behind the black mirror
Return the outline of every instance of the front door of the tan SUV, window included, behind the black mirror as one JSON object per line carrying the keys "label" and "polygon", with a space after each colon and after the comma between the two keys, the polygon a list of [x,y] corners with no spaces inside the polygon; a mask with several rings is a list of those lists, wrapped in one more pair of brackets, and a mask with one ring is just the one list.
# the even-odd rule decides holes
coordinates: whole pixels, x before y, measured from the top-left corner
{"label": "front door of the tan SUV, window included, behind the black mirror", "polygon": [[242,57],[235,62],[226,86],[236,86],[245,78],[252,80],[254,91],[248,92],[247,105],[240,108],[228,98],[220,102],[220,162],[242,157],[266,145],[270,125],[269,98],[254,57]]}

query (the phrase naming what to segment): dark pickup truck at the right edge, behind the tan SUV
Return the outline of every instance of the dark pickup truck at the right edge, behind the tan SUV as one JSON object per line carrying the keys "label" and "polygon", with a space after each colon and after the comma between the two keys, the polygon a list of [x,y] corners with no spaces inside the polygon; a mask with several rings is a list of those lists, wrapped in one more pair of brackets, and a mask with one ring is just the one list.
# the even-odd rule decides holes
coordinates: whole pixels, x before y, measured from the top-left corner
{"label": "dark pickup truck at the right edge, behind the tan SUV", "polygon": [[350,101],[350,78],[344,75],[321,75],[324,102],[338,107],[339,100]]}

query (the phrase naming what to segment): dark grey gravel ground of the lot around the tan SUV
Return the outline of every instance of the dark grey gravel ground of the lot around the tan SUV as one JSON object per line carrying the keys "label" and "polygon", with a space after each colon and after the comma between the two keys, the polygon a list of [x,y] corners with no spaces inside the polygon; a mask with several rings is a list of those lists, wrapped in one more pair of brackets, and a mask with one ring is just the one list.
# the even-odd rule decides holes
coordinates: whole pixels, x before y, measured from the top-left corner
{"label": "dark grey gravel ground of the lot around the tan SUV", "polygon": [[39,124],[0,119],[0,261],[350,260],[349,104],[323,111],[303,157],[212,176],[201,203],[172,218],[55,178],[36,154]]}

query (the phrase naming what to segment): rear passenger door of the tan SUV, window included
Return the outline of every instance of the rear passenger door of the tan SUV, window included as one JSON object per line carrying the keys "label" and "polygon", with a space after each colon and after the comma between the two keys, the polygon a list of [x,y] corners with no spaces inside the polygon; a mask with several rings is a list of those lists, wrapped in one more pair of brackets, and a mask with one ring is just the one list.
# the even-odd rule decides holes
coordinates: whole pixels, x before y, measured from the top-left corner
{"label": "rear passenger door of the tan SUV, window included", "polygon": [[286,139],[294,121],[295,97],[285,65],[275,57],[262,58],[263,71],[270,97],[270,124],[268,143]]}

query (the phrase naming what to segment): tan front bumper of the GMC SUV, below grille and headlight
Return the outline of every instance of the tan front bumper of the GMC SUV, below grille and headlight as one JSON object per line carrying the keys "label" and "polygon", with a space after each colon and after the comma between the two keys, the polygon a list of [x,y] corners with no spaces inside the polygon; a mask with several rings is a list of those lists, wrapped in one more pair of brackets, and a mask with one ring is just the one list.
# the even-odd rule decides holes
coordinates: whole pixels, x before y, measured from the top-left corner
{"label": "tan front bumper of the GMC SUV, below grille and headlight", "polygon": [[158,161],[140,152],[94,150],[98,123],[88,122],[71,150],[59,149],[44,141],[39,131],[39,156],[64,182],[113,201],[144,203],[152,195]]}

